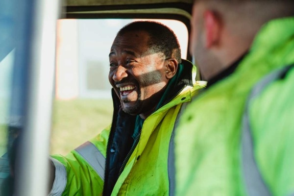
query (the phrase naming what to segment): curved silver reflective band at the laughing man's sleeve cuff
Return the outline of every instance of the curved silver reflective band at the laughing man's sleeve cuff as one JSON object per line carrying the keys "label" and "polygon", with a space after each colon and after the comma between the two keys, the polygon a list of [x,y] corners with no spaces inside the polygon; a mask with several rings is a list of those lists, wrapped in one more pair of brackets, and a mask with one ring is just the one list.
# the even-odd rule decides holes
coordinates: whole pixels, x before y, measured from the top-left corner
{"label": "curved silver reflective band at the laughing man's sleeve cuff", "polygon": [[54,179],[53,187],[49,193],[49,196],[61,196],[67,182],[66,169],[64,165],[60,163],[58,160],[52,157],[50,157],[50,159],[55,166],[55,179]]}

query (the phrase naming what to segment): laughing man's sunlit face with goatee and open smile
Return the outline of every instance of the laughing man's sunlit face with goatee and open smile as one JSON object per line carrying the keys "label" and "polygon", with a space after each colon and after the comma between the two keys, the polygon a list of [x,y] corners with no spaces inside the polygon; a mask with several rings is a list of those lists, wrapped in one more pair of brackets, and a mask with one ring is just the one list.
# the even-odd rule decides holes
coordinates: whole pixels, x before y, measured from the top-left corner
{"label": "laughing man's sunlit face with goatee and open smile", "polygon": [[121,100],[123,111],[147,117],[156,107],[168,83],[162,53],[147,46],[145,31],[118,35],[109,54],[109,82]]}

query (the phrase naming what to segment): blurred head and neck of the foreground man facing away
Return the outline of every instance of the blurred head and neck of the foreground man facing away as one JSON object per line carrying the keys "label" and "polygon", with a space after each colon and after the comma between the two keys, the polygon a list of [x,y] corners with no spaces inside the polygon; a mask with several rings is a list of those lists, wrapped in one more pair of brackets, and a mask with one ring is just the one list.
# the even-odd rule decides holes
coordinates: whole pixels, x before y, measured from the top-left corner
{"label": "blurred head and neck of the foreground man facing away", "polygon": [[190,52],[203,79],[241,57],[263,24],[293,14],[293,0],[195,0]]}

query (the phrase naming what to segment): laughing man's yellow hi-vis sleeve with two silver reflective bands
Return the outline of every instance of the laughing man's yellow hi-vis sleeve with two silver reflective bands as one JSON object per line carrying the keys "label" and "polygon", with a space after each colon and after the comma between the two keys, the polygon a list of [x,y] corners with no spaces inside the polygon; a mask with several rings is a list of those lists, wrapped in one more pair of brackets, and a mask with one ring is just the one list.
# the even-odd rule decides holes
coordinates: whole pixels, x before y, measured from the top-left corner
{"label": "laughing man's yellow hi-vis sleeve with two silver reflective bands", "polygon": [[49,196],[101,195],[109,127],[66,156],[52,155],[55,180]]}

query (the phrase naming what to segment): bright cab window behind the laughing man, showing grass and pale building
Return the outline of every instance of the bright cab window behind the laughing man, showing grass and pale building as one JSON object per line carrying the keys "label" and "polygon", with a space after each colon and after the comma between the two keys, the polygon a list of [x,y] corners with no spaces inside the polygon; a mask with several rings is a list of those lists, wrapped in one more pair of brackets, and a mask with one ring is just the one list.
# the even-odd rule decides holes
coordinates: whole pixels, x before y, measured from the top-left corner
{"label": "bright cab window behind the laughing man, showing grass and pale building", "polygon": [[[68,153],[111,123],[108,54],[117,32],[136,20],[145,19],[58,21],[51,153]],[[174,31],[186,58],[187,27],[176,20],[153,21]]]}

